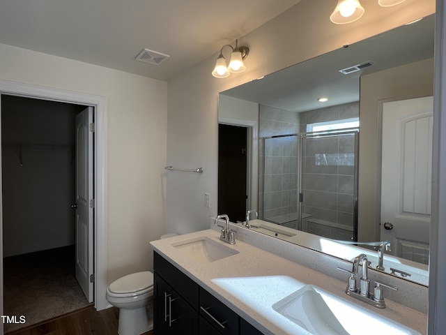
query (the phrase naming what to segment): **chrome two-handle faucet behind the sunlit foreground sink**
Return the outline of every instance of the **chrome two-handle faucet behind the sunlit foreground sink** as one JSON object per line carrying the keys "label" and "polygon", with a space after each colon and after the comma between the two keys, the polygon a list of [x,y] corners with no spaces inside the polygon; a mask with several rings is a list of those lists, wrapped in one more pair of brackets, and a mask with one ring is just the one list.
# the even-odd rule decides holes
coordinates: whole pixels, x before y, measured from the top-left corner
{"label": "chrome two-handle faucet behind the sunlit foreground sink", "polygon": [[[362,265],[362,276],[360,278],[359,288],[356,286],[356,275],[359,266]],[[361,253],[357,255],[353,260],[353,267],[351,271],[346,269],[337,268],[338,270],[347,272],[351,276],[348,278],[348,286],[346,288],[346,294],[350,297],[354,297],[359,299],[371,306],[375,306],[378,308],[385,308],[385,302],[383,298],[383,289],[381,286],[385,286],[386,288],[390,288],[392,290],[398,290],[397,287],[392,285],[387,285],[385,283],[381,283],[380,281],[375,281],[376,286],[374,288],[374,294],[371,295],[369,293],[369,261],[367,260],[367,255]]]}

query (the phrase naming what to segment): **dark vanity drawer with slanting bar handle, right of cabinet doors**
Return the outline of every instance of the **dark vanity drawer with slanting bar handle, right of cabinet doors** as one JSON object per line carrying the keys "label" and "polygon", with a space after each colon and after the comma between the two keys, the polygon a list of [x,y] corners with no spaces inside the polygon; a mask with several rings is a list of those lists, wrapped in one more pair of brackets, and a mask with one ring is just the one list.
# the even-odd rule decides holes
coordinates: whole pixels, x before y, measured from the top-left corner
{"label": "dark vanity drawer with slanting bar handle, right of cabinet doors", "polygon": [[238,334],[238,315],[203,288],[200,288],[199,313],[218,334]]}

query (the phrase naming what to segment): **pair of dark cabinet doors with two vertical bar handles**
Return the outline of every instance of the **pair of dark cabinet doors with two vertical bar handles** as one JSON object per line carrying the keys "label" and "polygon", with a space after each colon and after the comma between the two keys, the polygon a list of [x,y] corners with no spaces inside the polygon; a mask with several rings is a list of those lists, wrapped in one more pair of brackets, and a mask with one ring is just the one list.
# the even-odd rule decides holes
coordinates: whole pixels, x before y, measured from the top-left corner
{"label": "pair of dark cabinet doors with two vertical bar handles", "polygon": [[155,272],[155,334],[198,334],[198,313]]}

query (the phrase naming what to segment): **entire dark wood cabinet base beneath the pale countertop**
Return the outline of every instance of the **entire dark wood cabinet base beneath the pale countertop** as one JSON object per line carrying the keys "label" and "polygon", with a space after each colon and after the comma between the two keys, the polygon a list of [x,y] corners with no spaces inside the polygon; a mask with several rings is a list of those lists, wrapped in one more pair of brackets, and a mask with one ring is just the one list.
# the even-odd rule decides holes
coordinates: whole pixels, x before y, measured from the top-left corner
{"label": "entire dark wood cabinet base beneath the pale countertop", "polygon": [[156,335],[262,334],[156,252],[153,265]]}

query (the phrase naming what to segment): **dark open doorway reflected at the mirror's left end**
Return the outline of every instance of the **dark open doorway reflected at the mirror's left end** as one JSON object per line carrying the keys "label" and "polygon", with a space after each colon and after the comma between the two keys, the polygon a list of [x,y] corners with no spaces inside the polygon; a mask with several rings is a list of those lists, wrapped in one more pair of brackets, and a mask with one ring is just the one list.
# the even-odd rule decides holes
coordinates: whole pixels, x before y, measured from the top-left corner
{"label": "dark open doorway reflected at the mirror's left end", "polygon": [[247,128],[218,125],[218,213],[231,222],[247,211]]}

